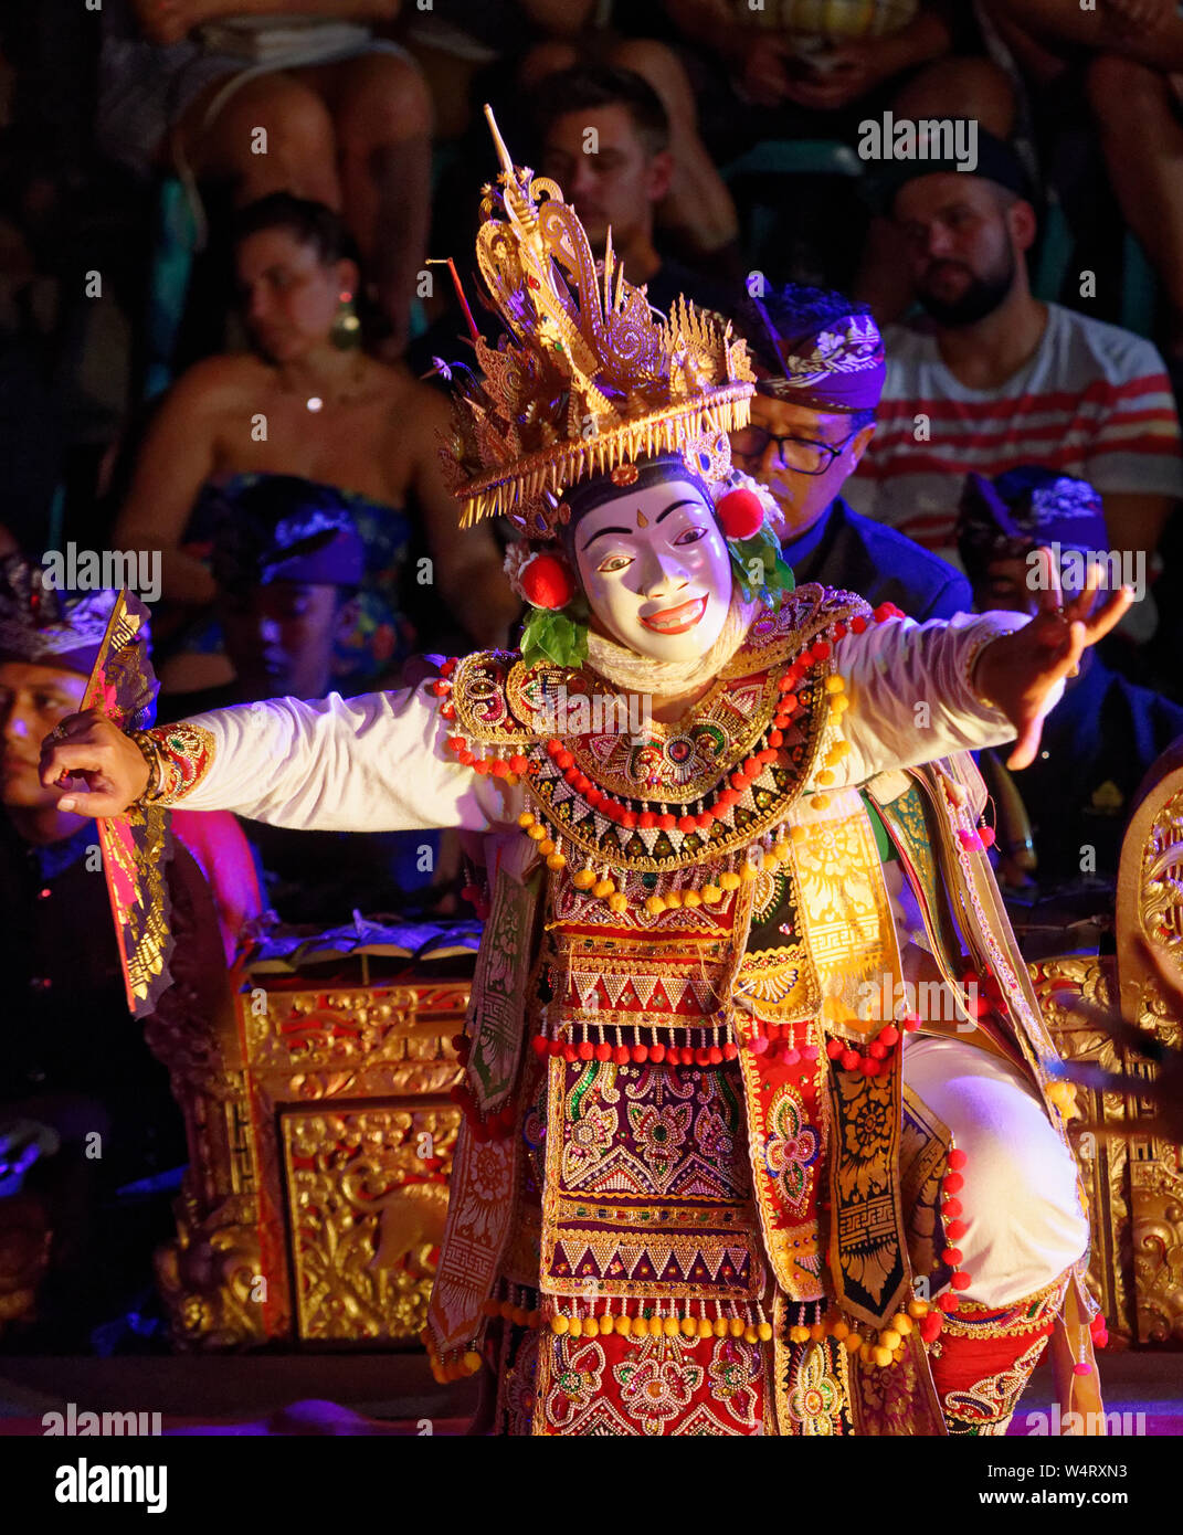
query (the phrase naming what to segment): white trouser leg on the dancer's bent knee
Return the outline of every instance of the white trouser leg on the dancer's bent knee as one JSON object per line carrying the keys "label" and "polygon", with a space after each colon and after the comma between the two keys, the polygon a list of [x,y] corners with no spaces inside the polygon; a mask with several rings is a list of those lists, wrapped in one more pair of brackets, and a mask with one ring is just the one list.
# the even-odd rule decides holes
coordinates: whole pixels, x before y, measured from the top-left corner
{"label": "white trouser leg on the dancer's bent knee", "polygon": [[905,1036],[904,1081],[967,1156],[956,1246],[962,1294],[1008,1306],[1051,1285],[1088,1246],[1076,1162],[1020,1071],[962,1039]]}

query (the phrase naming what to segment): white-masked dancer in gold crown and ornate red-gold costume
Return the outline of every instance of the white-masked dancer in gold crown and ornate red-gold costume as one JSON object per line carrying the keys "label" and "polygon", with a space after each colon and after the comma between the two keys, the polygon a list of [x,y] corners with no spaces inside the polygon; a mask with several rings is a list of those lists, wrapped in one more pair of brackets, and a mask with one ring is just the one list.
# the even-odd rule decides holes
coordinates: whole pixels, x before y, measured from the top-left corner
{"label": "white-masked dancer in gold crown and ornate red-gold costume", "polygon": [[[522,533],[522,649],[133,738],[75,715],[43,781],[97,815],[486,834],[428,1348],[491,1366],[496,1431],[1002,1432],[1062,1314],[1091,1383],[1088,1225],[959,754],[1030,761],[1128,596],[918,626],[792,589],[729,464],[744,344],[597,270],[497,144],[477,256],[509,336],[445,451],[463,520]],[[904,901],[953,1019],[918,1016]]]}

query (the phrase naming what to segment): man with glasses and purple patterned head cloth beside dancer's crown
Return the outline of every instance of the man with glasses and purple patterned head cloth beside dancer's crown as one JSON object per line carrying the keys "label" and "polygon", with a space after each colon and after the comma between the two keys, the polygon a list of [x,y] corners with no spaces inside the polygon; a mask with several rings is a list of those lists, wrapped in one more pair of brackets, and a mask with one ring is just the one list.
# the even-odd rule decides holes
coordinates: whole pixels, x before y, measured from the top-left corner
{"label": "man with glasses and purple patterned head cloth beside dancer's crown", "polygon": [[758,382],[752,424],[732,434],[732,454],[781,508],[781,553],[796,580],[895,602],[921,622],[965,612],[970,588],[959,571],[861,517],[841,494],[875,433],[884,387],[870,310],[789,284],[749,299],[740,325]]}

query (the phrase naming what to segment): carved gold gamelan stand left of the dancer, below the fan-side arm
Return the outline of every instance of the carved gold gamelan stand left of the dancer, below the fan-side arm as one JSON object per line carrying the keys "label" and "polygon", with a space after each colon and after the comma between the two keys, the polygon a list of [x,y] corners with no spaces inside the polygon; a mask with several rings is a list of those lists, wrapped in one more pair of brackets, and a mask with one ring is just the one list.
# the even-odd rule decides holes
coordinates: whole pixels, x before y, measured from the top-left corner
{"label": "carved gold gamelan stand left of the dancer, below the fan-side arm", "polygon": [[417,1335],[466,1004],[465,979],[313,985],[236,969],[204,1025],[184,1007],[152,1021],[190,1136],[178,1236],[157,1259],[181,1348]]}

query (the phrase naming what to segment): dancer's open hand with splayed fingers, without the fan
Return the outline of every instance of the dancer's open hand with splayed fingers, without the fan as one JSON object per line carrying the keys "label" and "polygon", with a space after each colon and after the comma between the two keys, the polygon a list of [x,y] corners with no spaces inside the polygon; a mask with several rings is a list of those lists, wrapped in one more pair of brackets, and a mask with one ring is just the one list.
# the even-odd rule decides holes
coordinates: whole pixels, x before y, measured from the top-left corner
{"label": "dancer's open hand with splayed fingers, without the fan", "polygon": [[1089,645],[1103,639],[1134,600],[1128,586],[1115,591],[1096,612],[1092,603],[1100,586],[1100,568],[1091,565],[1085,589],[1063,602],[1060,574],[1051,550],[1037,550],[1042,562],[1039,612],[1025,628],[993,640],[977,657],[974,691],[990,698],[1017,732],[1007,766],[1030,768],[1039,751],[1048,694],[1066,677],[1074,677]]}

